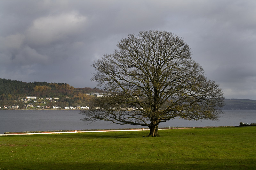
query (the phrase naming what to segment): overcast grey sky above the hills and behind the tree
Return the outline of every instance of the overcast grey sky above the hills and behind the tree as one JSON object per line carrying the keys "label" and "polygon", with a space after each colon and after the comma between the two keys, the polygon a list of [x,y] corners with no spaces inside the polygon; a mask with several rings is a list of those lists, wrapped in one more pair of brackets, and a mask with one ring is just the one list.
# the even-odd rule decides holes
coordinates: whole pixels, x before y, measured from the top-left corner
{"label": "overcast grey sky above the hills and behind the tree", "polygon": [[155,29],[182,37],[225,98],[256,100],[255,0],[1,0],[0,78],[94,88],[94,60]]}

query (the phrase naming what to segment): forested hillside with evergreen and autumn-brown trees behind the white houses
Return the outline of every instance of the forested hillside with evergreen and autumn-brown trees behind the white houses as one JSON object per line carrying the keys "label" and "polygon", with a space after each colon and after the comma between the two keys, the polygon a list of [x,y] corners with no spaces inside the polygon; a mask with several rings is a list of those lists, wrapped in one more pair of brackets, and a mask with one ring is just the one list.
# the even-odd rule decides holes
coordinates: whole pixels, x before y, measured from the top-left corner
{"label": "forested hillside with evergreen and autumn-brown trees behind the white houses", "polygon": [[[102,92],[98,88],[74,88],[67,83],[33,82],[26,83],[17,80],[0,78],[0,105],[12,104],[10,101],[26,98],[26,96],[58,97],[62,102],[86,105],[90,96],[86,93]],[[3,103],[5,101],[5,103]],[[9,102],[7,102],[9,101]],[[77,103],[78,101],[78,103]],[[87,102],[87,103],[86,103]]]}

